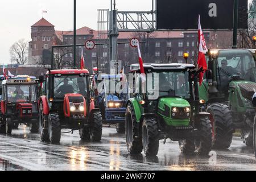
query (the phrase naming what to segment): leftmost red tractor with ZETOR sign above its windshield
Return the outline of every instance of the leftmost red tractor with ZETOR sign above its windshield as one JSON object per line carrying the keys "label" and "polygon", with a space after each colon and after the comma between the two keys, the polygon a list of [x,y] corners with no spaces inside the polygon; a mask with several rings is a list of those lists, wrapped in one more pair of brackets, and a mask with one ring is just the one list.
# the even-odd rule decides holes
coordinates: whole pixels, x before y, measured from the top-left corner
{"label": "leftmost red tractor with ZETOR sign above its windshield", "polygon": [[[2,81],[1,127],[11,134],[14,126],[24,123],[32,133],[38,132],[38,93],[34,78],[16,76]],[[4,128],[6,130],[4,130]]]}

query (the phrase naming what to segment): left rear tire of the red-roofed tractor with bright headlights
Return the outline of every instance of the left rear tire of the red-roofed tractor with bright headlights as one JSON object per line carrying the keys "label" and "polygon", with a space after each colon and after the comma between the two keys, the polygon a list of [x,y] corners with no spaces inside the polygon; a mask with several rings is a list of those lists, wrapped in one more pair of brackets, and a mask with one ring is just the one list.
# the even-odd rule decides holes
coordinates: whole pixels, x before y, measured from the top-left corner
{"label": "left rear tire of the red-roofed tractor with bright headlights", "polygon": [[49,142],[48,129],[45,129],[43,127],[43,121],[45,121],[46,119],[48,119],[48,115],[43,114],[43,104],[40,103],[39,115],[38,115],[38,126],[39,126],[40,138],[42,142]]}

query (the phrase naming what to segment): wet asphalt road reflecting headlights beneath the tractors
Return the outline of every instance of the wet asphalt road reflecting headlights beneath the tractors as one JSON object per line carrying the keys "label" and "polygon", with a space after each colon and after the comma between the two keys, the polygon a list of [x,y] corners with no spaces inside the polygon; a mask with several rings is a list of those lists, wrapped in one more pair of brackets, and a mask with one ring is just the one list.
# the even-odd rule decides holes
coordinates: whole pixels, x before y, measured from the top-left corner
{"label": "wet asphalt road reflecting headlights beneath the tractors", "polygon": [[[233,138],[229,150],[216,150],[213,156],[186,156],[177,142],[163,140],[155,158],[129,155],[125,135],[114,127],[104,127],[100,143],[81,142],[78,131],[62,134],[60,144],[40,142],[19,126],[13,135],[0,135],[1,170],[256,170],[253,150],[240,138]],[[216,154],[216,156],[215,156]]]}

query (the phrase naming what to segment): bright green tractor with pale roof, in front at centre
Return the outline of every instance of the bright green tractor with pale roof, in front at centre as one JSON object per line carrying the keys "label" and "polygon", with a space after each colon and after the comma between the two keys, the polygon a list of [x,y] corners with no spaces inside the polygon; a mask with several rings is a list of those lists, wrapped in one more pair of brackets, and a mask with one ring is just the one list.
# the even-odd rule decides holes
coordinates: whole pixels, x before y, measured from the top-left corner
{"label": "bright green tractor with pale roof, in front at centre", "polygon": [[[131,65],[133,98],[127,101],[126,145],[130,154],[158,154],[159,140],[179,141],[181,152],[208,155],[212,147],[210,114],[200,104],[195,65],[143,64],[146,86],[139,64]],[[129,78],[130,81],[130,78]],[[145,85],[145,82],[143,83]],[[153,86],[152,86],[153,85]],[[144,89],[143,89],[144,88]],[[131,93],[131,92],[130,92]]]}

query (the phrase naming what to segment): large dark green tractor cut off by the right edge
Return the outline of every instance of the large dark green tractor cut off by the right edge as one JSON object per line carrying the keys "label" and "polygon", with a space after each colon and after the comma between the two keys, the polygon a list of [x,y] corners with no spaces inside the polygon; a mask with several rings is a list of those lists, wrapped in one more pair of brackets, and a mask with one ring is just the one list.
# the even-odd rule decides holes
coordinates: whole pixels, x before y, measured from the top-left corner
{"label": "large dark green tractor cut off by the right edge", "polygon": [[226,149],[232,143],[236,129],[243,142],[253,145],[255,109],[251,98],[256,90],[254,49],[218,49],[208,51],[208,69],[212,83],[206,77],[199,87],[200,99],[214,120],[213,147]]}

